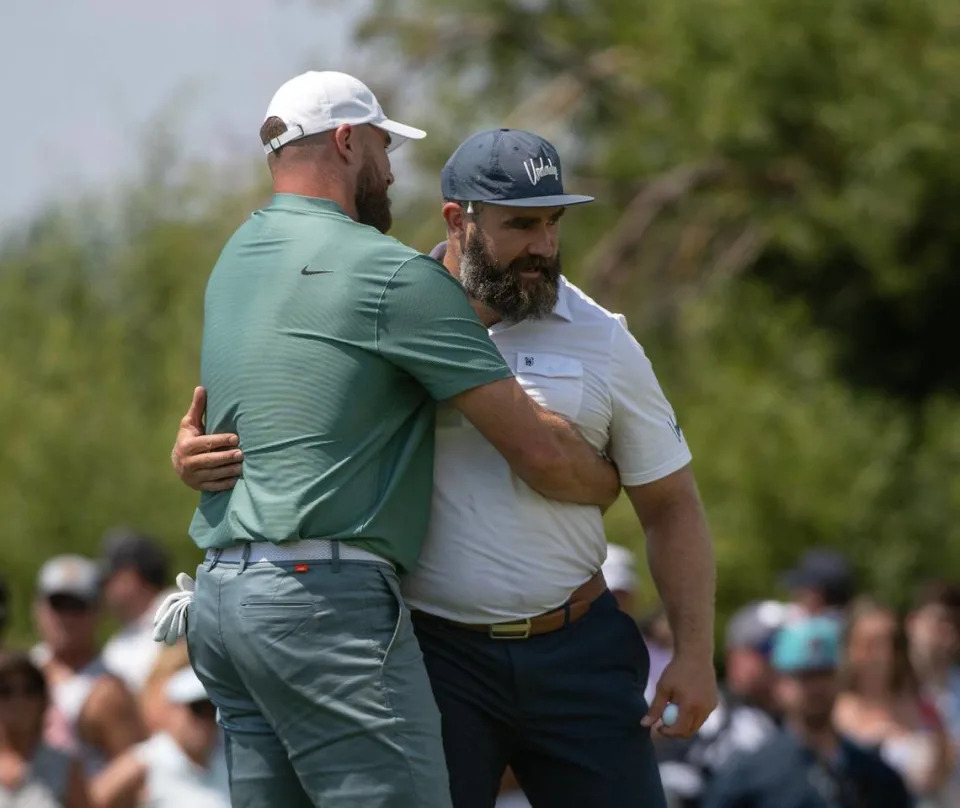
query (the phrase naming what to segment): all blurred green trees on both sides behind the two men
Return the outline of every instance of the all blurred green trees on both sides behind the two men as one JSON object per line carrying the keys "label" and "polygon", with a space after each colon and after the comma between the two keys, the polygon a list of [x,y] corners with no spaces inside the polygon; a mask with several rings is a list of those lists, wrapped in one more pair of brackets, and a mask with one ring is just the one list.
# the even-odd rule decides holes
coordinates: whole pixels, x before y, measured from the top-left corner
{"label": "all blurred green trees on both sides behind the two men", "polygon": [[[553,140],[598,198],[564,219],[565,271],[627,315],[678,411],[721,614],[813,544],[898,603],[960,576],[960,5],[379,0],[357,37],[345,69],[430,131],[399,153],[399,238],[442,237],[439,169],[484,127]],[[168,452],[206,276],[265,172],[150,154],[119,202],[51,209],[0,249],[21,634],[40,561],[111,525],[196,559]],[[624,501],[607,519],[641,548]]]}

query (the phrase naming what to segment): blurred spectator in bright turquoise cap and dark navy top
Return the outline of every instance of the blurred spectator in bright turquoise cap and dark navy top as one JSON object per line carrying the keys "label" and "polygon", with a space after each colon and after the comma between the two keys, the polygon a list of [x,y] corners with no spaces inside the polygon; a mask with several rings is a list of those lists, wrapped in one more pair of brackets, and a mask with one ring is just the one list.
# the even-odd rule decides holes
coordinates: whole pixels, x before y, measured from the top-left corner
{"label": "blurred spectator in bright turquoise cap and dark navy top", "polygon": [[840,628],[826,617],[788,623],[774,639],[784,726],[735,758],[707,787],[705,808],[909,808],[899,775],[834,727]]}

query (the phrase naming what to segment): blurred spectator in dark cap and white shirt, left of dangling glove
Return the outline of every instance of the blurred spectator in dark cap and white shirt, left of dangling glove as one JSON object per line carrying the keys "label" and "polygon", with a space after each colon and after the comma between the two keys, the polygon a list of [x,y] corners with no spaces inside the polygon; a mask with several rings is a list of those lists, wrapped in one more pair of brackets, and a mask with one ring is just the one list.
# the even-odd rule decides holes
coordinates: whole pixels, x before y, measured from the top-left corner
{"label": "blurred spectator in dark cap and white shirt, left of dangling glove", "polygon": [[153,618],[170,581],[166,551],[149,536],[128,530],[107,534],[100,558],[104,606],[122,624],[103,648],[107,669],[134,694],[150,674],[159,645]]}

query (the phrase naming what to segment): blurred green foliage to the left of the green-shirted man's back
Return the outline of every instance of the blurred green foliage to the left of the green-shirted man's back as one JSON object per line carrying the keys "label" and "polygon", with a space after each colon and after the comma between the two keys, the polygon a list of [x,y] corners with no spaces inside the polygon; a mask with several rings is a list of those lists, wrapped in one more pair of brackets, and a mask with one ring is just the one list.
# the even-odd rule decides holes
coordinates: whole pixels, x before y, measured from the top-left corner
{"label": "blurred green foliage to the left of the green-shirted man's back", "polygon": [[169,452],[197,380],[207,274],[256,195],[149,185],[116,207],[45,215],[0,251],[0,514],[17,635],[40,563],[96,555],[111,526],[196,563],[195,497]]}

